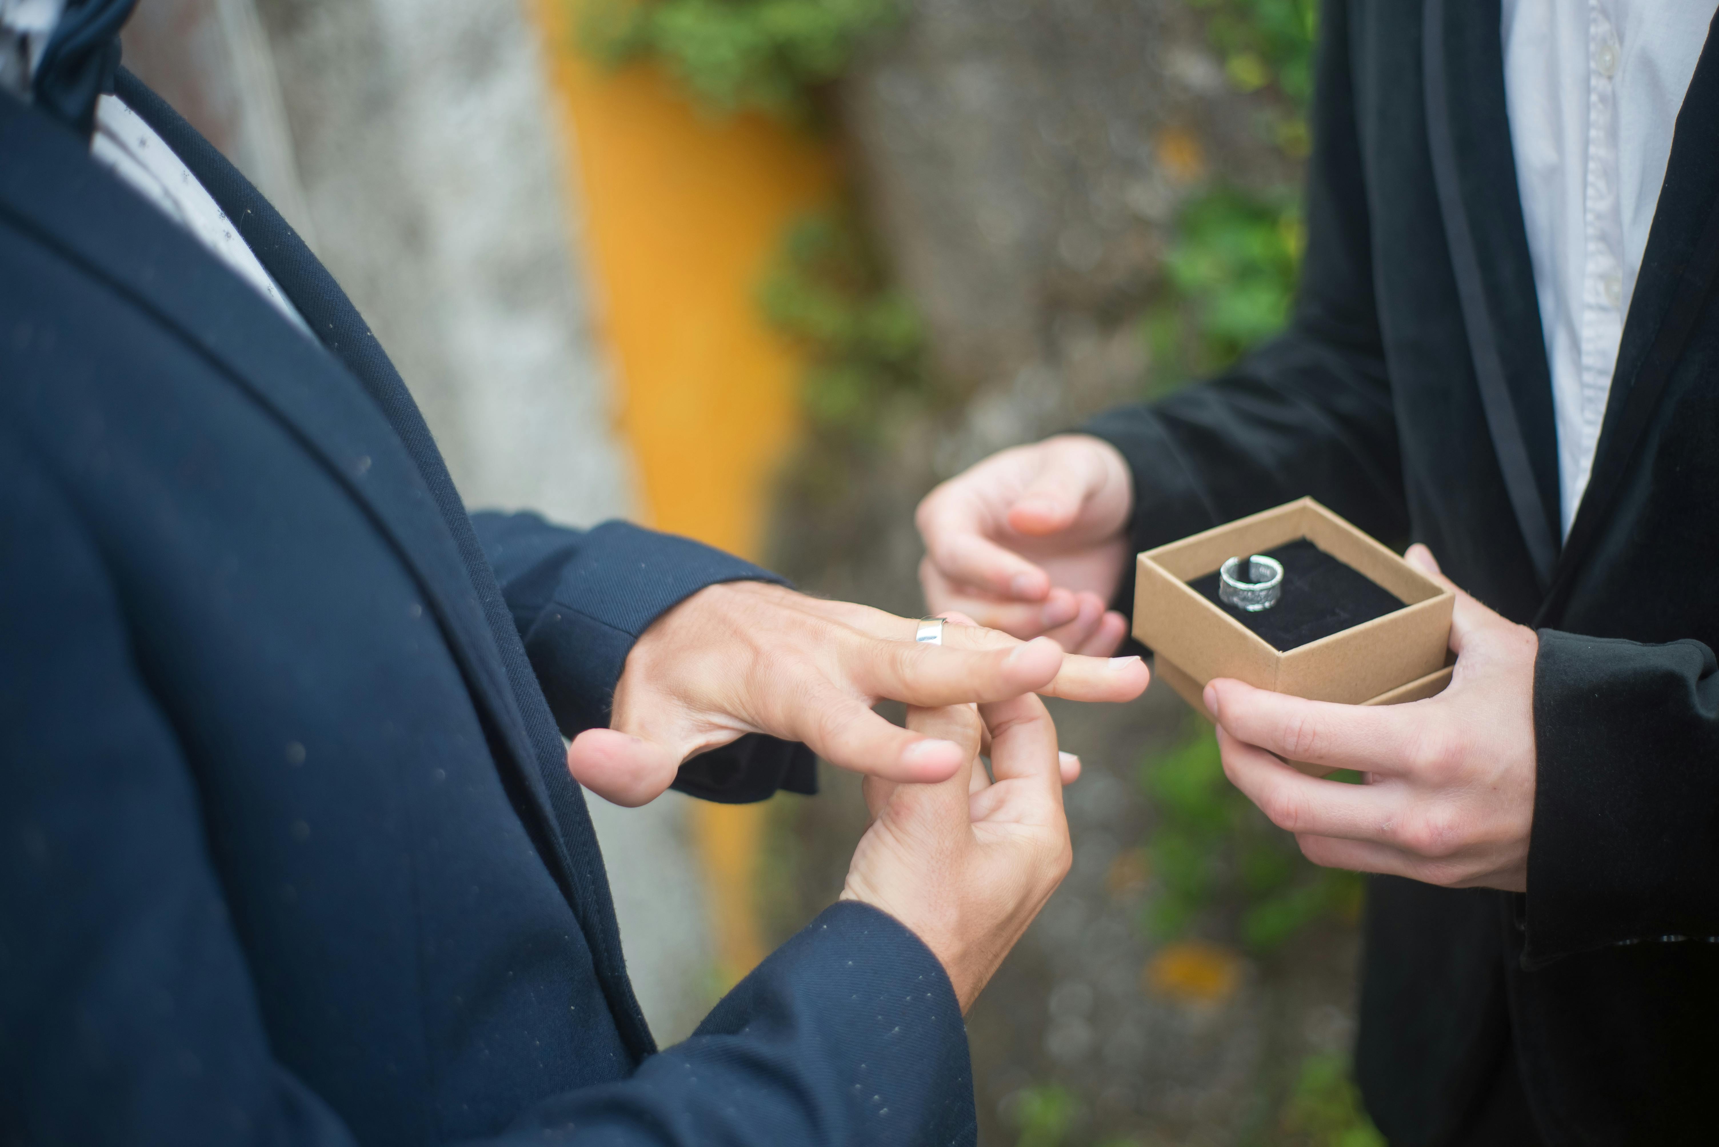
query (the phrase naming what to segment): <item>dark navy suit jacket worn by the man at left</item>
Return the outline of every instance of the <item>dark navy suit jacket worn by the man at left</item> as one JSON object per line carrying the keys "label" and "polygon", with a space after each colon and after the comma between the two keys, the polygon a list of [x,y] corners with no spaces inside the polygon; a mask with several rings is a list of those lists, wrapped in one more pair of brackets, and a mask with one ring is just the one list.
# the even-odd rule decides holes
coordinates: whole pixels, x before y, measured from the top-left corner
{"label": "dark navy suit jacket worn by the man at left", "polygon": [[[973,1140],[937,958],[837,905],[658,1053],[560,731],[768,577],[468,519],[363,319],[120,94],[316,333],[0,96],[0,1144]],[[808,788],[751,738],[682,786]]]}

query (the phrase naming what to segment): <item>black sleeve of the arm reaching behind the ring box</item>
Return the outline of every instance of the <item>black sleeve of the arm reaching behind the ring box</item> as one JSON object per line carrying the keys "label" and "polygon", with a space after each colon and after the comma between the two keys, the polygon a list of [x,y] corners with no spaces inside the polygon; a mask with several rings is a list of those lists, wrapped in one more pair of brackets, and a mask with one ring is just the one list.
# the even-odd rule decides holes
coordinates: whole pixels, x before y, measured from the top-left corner
{"label": "black sleeve of the arm reaching behind the ring box", "polygon": [[[1081,428],[1128,460],[1135,551],[1305,495],[1375,537],[1408,534],[1343,3],[1322,7],[1320,38],[1308,246],[1289,328],[1219,378]],[[1131,611],[1126,582],[1117,606]]]}

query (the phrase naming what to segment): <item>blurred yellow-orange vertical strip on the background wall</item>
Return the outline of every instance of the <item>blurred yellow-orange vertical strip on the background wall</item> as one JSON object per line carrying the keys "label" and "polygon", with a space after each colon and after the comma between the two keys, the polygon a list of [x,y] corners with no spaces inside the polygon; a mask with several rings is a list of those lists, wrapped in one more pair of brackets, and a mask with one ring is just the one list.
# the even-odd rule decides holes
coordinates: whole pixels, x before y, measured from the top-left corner
{"label": "blurred yellow-orange vertical strip on the background wall", "polygon": [[[834,151],[756,115],[705,115],[655,67],[607,70],[578,45],[567,0],[528,7],[548,45],[578,184],[567,201],[646,520],[758,558],[804,362],[763,323],[756,287],[787,223],[829,201]],[[765,956],[767,805],[693,809],[727,987]]]}

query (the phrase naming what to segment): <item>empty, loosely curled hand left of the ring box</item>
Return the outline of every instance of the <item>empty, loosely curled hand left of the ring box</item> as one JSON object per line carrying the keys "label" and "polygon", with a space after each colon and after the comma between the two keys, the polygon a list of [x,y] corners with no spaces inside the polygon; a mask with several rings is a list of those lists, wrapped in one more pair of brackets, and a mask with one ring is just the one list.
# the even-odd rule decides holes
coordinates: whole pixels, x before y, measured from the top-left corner
{"label": "empty, loosely curled hand left of the ring box", "polygon": [[1133,505],[1128,464],[1102,438],[994,453],[920,503],[925,599],[1016,637],[1112,654],[1128,635],[1107,606],[1128,565]]}

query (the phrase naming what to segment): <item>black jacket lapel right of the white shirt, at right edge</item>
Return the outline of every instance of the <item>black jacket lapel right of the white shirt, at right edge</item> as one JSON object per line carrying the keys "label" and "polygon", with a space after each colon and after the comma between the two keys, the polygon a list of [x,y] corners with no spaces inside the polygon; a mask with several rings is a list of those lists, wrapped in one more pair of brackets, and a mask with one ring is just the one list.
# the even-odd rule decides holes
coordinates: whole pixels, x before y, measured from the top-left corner
{"label": "black jacket lapel right of the white shirt, at right edge", "polygon": [[[1719,26],[1719,15],[1714,17]],[[1604,525],[1612,496],[1676,373],[1719,278],[1719,48],[1712,27],[1671,137],[1666,182],[1624,319],[1588,489],[1547,599],[1563,594]],[[1542,610],[1545,613],[1547,610]]]}

